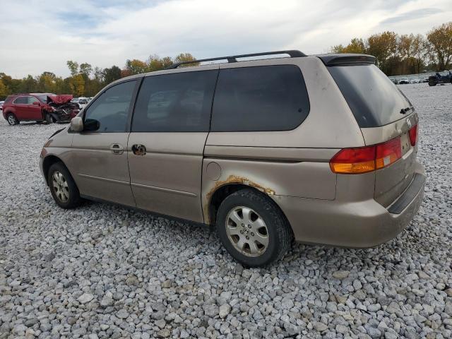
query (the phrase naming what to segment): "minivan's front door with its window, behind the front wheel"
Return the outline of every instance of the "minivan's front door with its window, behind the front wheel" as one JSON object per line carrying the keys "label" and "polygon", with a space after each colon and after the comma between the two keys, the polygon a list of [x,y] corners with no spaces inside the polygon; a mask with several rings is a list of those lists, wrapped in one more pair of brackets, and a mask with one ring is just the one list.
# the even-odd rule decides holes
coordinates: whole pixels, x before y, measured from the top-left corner
{"label": "minivan's front door with its window, behind the front wheel", "polygon": [[128,121],[137,81],[105,90],[85,109],[68,167],[81,195],[135,206],[127,165]]}

